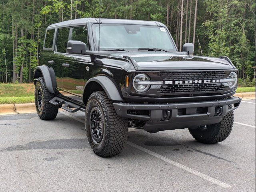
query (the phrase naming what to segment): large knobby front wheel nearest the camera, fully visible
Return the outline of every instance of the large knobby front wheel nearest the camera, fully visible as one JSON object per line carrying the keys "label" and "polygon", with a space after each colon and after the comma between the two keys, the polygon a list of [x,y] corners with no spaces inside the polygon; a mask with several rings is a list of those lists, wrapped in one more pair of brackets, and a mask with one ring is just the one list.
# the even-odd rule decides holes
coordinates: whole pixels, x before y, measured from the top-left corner
{"label": "large knobby front wheel nearest the camera, fully visible", "polygon": [[[101,157],[110,157],[119,154],[128,137],[128,120],[118,116],[113,102],[108,99],[104,91],[97,91],[91,94],[85,112],[85,128],[88,142],[95,154]],[[94,129],[91,125],[96,121],[92,113],[97,111],[100,119],[99,130],[102,130],[102,137],[98,136],[96,141]],[[93,122],[94,120],[94,122]],[[102,122],[102,123],[101,123]],[[98,129],[97,129],[98,130]]]}

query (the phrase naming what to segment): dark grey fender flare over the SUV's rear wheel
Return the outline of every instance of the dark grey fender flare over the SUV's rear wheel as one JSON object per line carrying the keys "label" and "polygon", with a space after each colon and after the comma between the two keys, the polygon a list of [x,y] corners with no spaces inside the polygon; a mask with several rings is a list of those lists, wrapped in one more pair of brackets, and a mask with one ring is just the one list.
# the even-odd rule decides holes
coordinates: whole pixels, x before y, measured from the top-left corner
{"label": "dark grey fender flare over the SUV's rear wheel", "polygon": [[44,81],[48,91],[55,94],[57,90],[57,82],[53,68],[48,68],[48,66],[46,65],[36,67],[34,73],[34,84],[36,84],[36,79],[41,76],[44,77]]}

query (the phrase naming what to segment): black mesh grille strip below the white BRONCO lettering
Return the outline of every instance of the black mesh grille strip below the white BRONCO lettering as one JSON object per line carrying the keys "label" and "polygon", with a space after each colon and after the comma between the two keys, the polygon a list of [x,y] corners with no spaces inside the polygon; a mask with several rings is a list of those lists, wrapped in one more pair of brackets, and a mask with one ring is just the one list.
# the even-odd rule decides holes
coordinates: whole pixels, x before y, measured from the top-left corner
{"label": "black mesh grille strip below the white BRONCO lettering", "polygon": [[204,83],[204,84],[174,84],[174,85],[164,85],[161,86],[157,91],[161,94],[171,94],[171,93],[202,93],[202,92],[222,92],[224,90],[222,84],[217,83]]}

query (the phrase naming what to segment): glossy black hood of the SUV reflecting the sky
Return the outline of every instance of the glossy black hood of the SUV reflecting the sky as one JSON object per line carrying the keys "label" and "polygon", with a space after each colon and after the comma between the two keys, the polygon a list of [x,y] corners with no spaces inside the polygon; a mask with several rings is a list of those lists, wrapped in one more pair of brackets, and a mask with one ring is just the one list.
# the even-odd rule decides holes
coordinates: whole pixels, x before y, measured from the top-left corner
{"label": "glossy black hood of the SUV reflecting the sky", "polygon": [[221,58],[188,56],[180,53],[114,53],[111,56],[129,56],[138,70],[211,70],[234,69],[232,64]]}

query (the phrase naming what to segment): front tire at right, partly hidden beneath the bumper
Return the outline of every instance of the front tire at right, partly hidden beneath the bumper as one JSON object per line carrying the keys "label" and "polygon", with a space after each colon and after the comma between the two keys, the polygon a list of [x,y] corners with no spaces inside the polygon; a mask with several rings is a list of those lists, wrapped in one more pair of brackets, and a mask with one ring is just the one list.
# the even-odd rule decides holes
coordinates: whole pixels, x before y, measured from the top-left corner
{"label": "front tire at right, partly hidden beneath the bumper", "polygon": [[[232,106],[228,106],[232,108]],[[214,144],[224,141],[230,134],[234,122],[234,112],[228,112],[221,122],[208,125],[204,128],[189,129],[190,134],[198,142],[205,144]]]}

